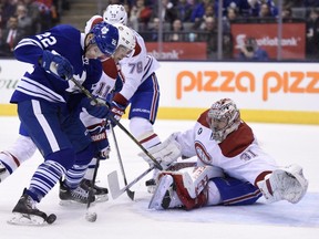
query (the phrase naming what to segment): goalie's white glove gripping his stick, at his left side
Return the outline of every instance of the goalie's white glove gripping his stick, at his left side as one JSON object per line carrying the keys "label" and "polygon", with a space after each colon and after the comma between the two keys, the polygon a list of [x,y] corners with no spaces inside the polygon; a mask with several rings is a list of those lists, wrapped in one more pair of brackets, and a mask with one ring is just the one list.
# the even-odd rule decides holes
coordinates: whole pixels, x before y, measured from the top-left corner
{"label": "goalie's white glove gripping his stick, at his left side", "polygon": [[[182,156],[181,145],[175,139],[174,134],[163,143],[150,148],[148,153],[161,164],[163,170],[167,169]],[[144,152],[140,153],[138,156],[143,157],[150,165],[154,165],[153,160]]]}

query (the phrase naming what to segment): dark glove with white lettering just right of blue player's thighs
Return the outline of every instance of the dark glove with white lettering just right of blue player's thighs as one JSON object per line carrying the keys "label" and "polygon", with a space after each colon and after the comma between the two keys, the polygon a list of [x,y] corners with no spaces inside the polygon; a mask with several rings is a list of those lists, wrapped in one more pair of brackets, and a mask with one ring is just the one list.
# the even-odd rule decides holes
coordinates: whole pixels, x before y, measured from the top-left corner
{"label": "dark glove with white lettering just right of blue player's thighs", "polygon": [[110,155],[110,144],[106,136],[105,122],[101,124],[91,125],[88,127],[93,144],[95,146],[96,156],[100,159],[107,159]]}

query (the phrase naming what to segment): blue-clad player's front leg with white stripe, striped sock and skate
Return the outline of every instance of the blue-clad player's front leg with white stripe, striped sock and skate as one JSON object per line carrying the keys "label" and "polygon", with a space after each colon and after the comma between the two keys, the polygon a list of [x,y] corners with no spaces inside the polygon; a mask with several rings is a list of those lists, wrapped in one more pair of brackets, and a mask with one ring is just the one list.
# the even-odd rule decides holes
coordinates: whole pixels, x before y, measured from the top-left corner
{"label": "blue-clad player's front leg with white stripe, striped sock and skate", "polygon": [[[21,124],[44,157],[44,162],[34,172],[30,185],[23,190],[12,212],[29,215],[42,220],[47,215],[37,208],[37,204],[55,186],[61,176],[72,167],[75,153],[71,142],[61,129],[60,108],[42,101],[24,101],[18,104]],[[84,132],[83,132],[84,133]]]}

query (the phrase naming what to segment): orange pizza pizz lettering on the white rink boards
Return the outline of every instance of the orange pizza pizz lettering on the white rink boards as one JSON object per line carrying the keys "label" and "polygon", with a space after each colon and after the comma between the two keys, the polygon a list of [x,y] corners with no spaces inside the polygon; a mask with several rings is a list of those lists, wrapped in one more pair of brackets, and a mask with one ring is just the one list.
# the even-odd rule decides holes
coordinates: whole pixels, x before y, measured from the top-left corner
{"label": "orange pizza pizz lettering on the white rink boards", "polygon": [[181,71],[176,77],[177,100],[182,100],[184,94],[189,92],[261,92],[261,98],[265,102],[276,93],[318,94],[319,72],[268,71],[257,80],[249,71]]}

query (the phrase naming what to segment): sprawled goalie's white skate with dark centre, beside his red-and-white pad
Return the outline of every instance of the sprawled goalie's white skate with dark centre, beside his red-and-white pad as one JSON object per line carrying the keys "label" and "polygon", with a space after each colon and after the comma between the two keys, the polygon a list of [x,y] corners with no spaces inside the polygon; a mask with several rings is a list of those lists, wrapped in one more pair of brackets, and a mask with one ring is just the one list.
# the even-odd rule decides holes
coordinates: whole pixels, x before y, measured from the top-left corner
{"label": "sprawled goalie's white skate with dark centre, beside his red-and-white pad", "polygon": [[161,210],[182,206],[183,204],[174,190],[173,177],[171,175],[163,175],[158,180],[148,208]]}

